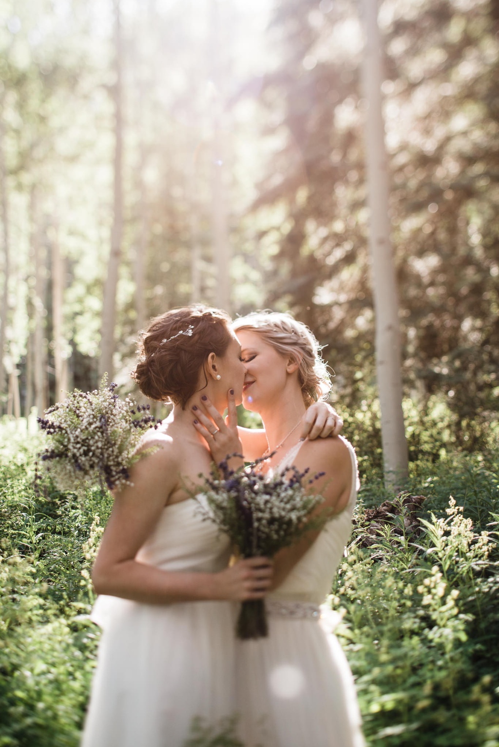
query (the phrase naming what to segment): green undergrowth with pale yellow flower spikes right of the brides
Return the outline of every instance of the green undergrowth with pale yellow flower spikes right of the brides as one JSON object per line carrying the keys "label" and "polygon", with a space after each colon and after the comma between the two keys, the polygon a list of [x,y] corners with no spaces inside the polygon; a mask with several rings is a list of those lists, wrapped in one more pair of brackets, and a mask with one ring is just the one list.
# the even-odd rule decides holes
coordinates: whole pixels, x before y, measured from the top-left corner
{"label": "green undergrowth with pale yellow flower spikes right of the brides", "polygon": [[389,526],[368,551],[356,542],[333,594],[368,743],[498,745],[495,536],[477,533],[451,499],[446,518],[423,520],[417,543]]}

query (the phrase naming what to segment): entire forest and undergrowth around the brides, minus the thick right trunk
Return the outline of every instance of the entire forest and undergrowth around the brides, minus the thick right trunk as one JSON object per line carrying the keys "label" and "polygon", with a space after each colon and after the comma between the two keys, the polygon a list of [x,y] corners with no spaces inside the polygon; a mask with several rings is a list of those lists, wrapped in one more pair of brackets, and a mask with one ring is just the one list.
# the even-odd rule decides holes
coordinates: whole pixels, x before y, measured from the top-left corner
{"label": "entire forest and undergrowth around the brides, minus the thick right trunk", "polygon": [[[328,604],[368,745],[499,747],[499,0],[379,6],[398,498],[382,482],[360,5],[0,0],[1,746],[79,743],[111,510],[97,486],[78,501],[35,479],[32,408],[103,371],[132,391],[137,332],[200,301],[290,310],[326,346],[361,477]],[[208,731],[188,744],[241,746]]]}

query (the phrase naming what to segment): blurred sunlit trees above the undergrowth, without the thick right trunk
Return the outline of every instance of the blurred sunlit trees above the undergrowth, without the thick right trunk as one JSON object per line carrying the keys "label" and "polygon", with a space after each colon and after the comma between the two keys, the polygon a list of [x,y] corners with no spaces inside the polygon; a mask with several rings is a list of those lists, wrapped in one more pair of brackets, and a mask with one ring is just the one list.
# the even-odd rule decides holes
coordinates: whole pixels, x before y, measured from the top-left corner
{"label": "blurred sunlit trees above the undergrowth, without the thick right trunk", "polygon": [[[1,412],[131,389],[137,331],[193,301],[291,310],[365,411],[359,3],[0,7]],[[499,2],[384,0],[379,25],[406,395],[472,450],[498,410]]]}

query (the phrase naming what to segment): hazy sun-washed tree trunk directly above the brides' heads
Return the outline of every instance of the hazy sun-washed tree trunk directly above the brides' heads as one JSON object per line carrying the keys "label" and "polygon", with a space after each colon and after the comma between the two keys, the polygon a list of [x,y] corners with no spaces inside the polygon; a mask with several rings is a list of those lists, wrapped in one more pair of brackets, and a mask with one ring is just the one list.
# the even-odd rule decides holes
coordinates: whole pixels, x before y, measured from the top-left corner
{"label": "hazy sun-washed tree trunk directly above the brides' heads", "polygon": [[226,194],[223,181],[224,149],[222,134],[223,114],[223,74],[220,60],[222,49],[220,4],[211,0],[211,28],[213,79],[215,84],[213,100],[213,251],[217,279],[217,298],[215,303],[221,309],[231,313],[230,298],[230,259],[229,229],[227,225]]}

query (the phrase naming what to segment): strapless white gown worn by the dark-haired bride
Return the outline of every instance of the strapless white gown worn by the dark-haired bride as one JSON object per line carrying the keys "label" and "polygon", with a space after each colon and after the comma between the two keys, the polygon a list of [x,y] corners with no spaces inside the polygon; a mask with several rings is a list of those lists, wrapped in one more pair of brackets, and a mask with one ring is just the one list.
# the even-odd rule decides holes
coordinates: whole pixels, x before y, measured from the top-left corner
{"label": "strapless white gown worn by the dark-haired bride", "polygon": [[[229,539],[196,513],[167,506],[137,560],[168,571],[220,571]],[[234,605],[140,604],[99,597],[103,628],[81,747],[182,747],[193,718],[235,713]]]}

